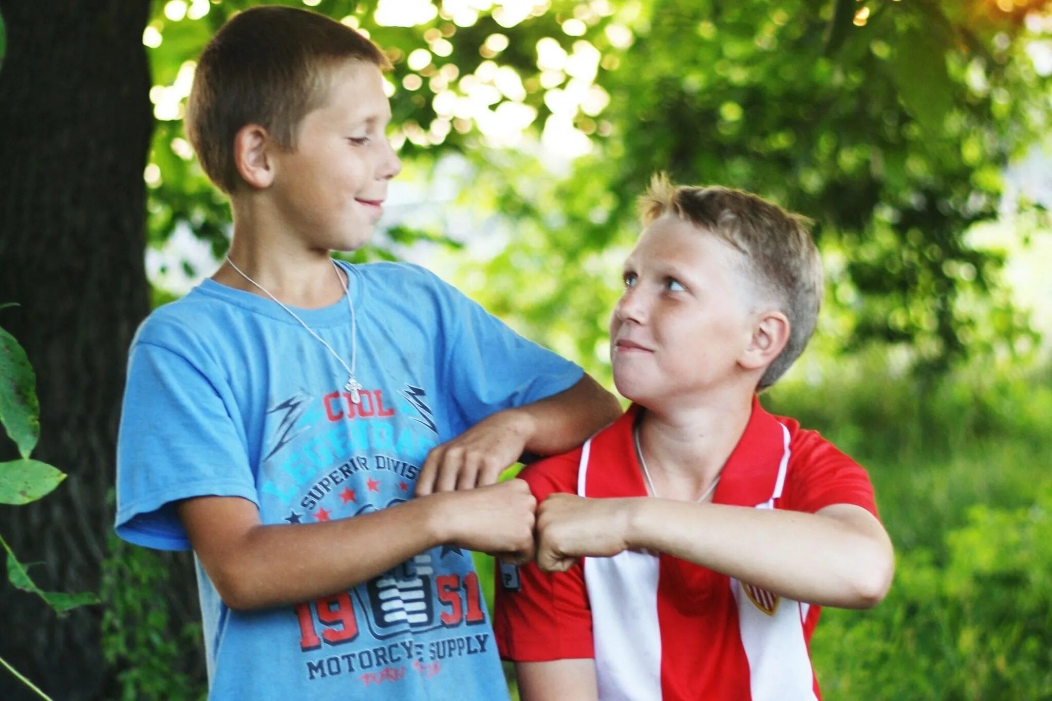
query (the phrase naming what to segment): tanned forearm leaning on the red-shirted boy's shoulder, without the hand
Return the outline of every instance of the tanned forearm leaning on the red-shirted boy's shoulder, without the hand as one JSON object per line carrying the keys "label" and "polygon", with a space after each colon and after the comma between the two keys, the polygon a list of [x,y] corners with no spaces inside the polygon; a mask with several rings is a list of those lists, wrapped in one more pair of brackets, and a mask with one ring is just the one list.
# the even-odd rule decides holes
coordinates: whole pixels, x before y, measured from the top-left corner
{"label": "tanned forearm leaning on the red-shirted boy's shoulder, without the hand", "polygon": [[526,419],[526,450],[537,455],[565,453],[621,415],[618,399],[587,374],[573,387],[510,411]]}

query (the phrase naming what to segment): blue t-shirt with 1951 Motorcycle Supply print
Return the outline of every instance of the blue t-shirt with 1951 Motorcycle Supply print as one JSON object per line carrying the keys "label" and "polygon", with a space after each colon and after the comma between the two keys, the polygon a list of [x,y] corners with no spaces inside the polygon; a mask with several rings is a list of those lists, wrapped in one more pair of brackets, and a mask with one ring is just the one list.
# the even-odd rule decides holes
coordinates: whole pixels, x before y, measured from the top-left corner
{"label": "blue t-shirt with 1951 Motorcycle Supply print", "polygon": [[[150,314],[128,365],[118,535],[189,549],[173,502],[203,495],[249,499],[263,523],[384,509],[411,497],[431,448],[582,376],[423,268],[341,265],[358,405],[343,366],[268,298],[207,280]],[[346,300],[296,313],[350,364]],[[332,596],[249,612],[197,572],[211,699],[507,698],[467,551],[434,548]]]}

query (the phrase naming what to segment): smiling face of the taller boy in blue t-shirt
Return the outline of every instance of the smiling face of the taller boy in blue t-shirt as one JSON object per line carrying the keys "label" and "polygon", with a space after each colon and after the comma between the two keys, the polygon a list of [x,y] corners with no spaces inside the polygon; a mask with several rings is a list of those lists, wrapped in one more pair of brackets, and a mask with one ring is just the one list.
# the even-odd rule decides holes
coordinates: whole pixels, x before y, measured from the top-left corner
{"label": "smiling face of the taller boy in blue t-shirt", "polygon": [[352,61],[326,77],[328,98],[303,119],[296,147],[272,153],[271,193],[290,233],[311,248],[351,251],[368,242],[402,166],[387,141],[380,69]]}

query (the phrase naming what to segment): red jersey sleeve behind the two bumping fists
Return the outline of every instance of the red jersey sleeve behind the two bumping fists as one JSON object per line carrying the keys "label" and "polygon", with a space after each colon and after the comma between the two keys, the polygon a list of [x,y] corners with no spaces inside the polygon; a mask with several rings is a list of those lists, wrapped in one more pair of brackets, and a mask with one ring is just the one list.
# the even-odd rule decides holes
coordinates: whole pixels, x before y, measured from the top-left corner
{"label": "red jersey sleeve behind the two bumping fists", "polygon": [[[520,473],[543,501],[555,492],[576,492],[581,451],[541,460]],[[515,662],[547,662],[594,657],[591,609],[584,568],[542,572],[535,562],[501,564],[493,631],[501,657]]]}

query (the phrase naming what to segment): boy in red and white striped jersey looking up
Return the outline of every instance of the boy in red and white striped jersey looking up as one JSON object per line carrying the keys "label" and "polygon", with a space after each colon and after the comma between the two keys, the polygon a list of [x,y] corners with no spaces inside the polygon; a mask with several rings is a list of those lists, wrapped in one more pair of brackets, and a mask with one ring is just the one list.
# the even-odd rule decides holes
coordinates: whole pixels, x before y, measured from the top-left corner
{"label": "boy in red and white striped jersey looking up", "polygon": [[520,476],[537,562],[502,565],[494,626],[524,701],[817,699],[820,606],[876,604],[893,555],[865,470],[767,413],[811,336],[822,266],[806,222],[655,178],[610,322],[632,400]]}

